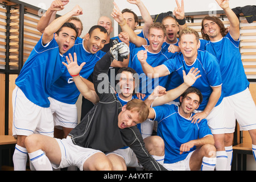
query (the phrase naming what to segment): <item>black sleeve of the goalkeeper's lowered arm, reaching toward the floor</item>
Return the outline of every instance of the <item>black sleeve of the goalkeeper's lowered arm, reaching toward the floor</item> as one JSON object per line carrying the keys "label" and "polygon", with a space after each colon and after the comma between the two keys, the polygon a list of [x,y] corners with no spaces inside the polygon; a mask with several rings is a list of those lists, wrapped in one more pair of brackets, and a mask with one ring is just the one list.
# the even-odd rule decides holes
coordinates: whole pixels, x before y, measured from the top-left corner
{"label": "black sleeve of the goalkeeper's lowered arm, reaching toward the floor", "polygon": [[139,163],[150,171],[167,171],[161,164],[159,164],[147,151],[142,135],[137,126],[128,127],[122,131],[123,139],[127,146],[134,151]]}

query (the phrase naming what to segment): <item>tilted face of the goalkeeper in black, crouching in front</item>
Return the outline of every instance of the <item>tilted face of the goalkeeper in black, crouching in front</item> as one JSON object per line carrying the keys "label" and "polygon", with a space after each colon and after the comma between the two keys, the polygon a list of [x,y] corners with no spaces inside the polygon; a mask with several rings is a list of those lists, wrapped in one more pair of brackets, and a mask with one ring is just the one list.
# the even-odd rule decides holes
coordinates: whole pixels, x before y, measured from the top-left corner
{"label": "tilted face of the goalkeeper in black, crouching in front", "polygon": [[137,111],[126,109],[126,105],[122,107],[121,113],[118,115],[118,127],[119,129],[125,129],[126,127],[135,126],[141,123],[139,120],[139,113]]}

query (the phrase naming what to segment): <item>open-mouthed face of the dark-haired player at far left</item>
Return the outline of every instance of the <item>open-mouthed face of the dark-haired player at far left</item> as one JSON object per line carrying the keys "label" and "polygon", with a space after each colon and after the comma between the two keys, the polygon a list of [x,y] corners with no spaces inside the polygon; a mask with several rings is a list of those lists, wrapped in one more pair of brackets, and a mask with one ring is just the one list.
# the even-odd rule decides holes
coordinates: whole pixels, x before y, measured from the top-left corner
{"label": "open-mouthed face of the dark-haired player at far left", "polygon": [[69,27],[61,28],[58,34],[54,34],[54,38],[59,45],[60,54],[63,55],[76,41],[76,31]]}

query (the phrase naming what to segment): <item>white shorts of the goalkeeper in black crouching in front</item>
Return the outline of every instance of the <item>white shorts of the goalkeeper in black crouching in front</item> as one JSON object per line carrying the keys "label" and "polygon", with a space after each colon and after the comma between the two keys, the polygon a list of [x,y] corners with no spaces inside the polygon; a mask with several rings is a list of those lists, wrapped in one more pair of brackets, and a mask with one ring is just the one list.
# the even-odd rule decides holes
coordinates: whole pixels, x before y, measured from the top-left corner
{"label": "white shorts of the goalkeeper in black crouching in front", "polygon": [[55,169],[76,166],[80,169],[80,171],[83,171],[84,163],[87,159],[98,152],[103,153],[100,150],[77,146],[76,144],[73,144],[71,137],[69,136],[63,139],[55,139],[59,143],[61,151],[60,165],[57,166],[56,164],[52,163],[52,167]]}

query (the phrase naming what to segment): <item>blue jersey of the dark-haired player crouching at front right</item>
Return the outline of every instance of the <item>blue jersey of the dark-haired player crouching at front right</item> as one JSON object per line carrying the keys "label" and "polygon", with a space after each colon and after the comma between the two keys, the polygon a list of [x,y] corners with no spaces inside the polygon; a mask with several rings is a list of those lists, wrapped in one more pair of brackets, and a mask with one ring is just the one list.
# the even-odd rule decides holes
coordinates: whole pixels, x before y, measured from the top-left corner
{"label": "blue jersey of the dark-haired player crouching at front right", "polygon": [[179,107],[176,105],[165,104],[153,109],[155,121],[158,121],[157,135],[164,140],[164,163],[184,160],[189,152],[196,150],[194,146],[190,151],[180,154],[181,144],[212,135],[206,119],[202,119],[200,123],[191,123],[179,114]]}

